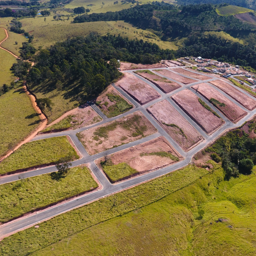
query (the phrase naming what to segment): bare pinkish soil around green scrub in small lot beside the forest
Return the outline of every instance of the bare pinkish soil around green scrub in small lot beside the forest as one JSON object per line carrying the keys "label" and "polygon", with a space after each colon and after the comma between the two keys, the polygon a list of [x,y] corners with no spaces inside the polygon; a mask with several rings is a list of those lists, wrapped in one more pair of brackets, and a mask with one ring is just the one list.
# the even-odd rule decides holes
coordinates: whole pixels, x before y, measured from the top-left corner
{"label": "bare pinkish soil around green scrub in small lot beside the forest", "polygon": [[[121,98],[123,98],[126,102],[128,102],[130,105],[133,105],[121,93],[119,93],[118,90],[116,90],[112,85],[110,85],[95,100],[96,102],[101,102],[100,109],[105,115],[109,112],[108,108],[116,103],[115,101],[111,102],[106,94],[118,95]],[[107,106],[104,105],[105,102],[108,102]]]}

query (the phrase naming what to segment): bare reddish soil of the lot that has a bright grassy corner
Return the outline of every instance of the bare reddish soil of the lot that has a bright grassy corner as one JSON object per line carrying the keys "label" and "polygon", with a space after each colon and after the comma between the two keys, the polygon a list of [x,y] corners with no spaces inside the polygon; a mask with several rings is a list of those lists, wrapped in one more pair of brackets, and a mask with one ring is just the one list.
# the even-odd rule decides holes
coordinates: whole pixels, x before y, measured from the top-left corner
{"label": "bare reddish soil of the lot that has a bright grassy corner", "polygon": [[[176,163],[169,157],[161,157],[156,155],[143,155],[152,152],[169,152],[172,155],[183,160],[184,158],[173,148],[164,136],[160,136],[153,140],[138,144],[125,150],[116,152],[111,155],[113,164],[126,163],[140,173],[149,172]],[[95,161],[100,166],[100,162],[104,161],[103,157]]]}

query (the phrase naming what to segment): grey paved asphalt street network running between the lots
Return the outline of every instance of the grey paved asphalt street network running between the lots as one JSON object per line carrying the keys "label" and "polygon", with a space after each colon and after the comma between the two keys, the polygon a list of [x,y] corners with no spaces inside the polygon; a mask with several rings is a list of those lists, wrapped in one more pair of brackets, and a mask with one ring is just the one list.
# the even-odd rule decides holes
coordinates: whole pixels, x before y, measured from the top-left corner
{"label": "grey paved asphalt street network running between the lots", "polygon": [[[167,69],[167,68],[163,68],[163,69]],[[175,72],[175,67],[172,67],[172,68],[169,68],[169,69],[172,69],[174,72]],[[153,69],[150,69],[152,72],[155,72]],[[130,72],[132,73],[132,71],[135,71],[135,70],[128,70],[128,71],[124,71],[124,72]],[[193,70],[190,70],[191,72],[194,72],[194,73],[197,73]],[[5,226],[0,226],[0,237],[1,236],[6,236],[8,235],[9,233],[11,232],[17,232],[18,230],[22,229],[22,228],[25,228],[25,227],[28,227],[28,226],[31,226],[31,225],[34,225],[35,223],[37,222],[41,222],[45,219],[48,219],[50,217],[53,217],[53,216],[56,216],[58,214],[61,214],[67,210],[70,210],[70,209],[73,209],[73,208],[76,208],[78,206],[81,206],[81,205],[84,205],[86,203],[89,203],[93,200],[96,200],[96,199],[99,199],[101,197],[105,197],[105,196],[108,196],[109,194],[112,194],[114,192],[117,192],[117,191],[120,191],[121,189],[124,189],[124,188],[129,188],[131,186],[134,186],[136,184],[139,184],[141,182],[145,182],[147,180],[150,180],[152,178],[156,178],[158,176],[161,176],[163,174],[166,174],[166,173],[169,173],[169,172],[172,172],[178,168],[181,168],[187,164],[190,163],[191,161],[191,158],[192,156],[197,153],[198,151],[200,151],[202,148],[204,148],[205,146],[207,146],[207,144],[209,144],[212,140],[214,140],[216,137],[218,137],[222,132],[224,132],[226,129],[229,129],[229,128],[234,128],[234,127],[239,127],[240,125],[242,125],[246,120],[250,119],[254,114],[256,114],[256,109],[253,110],[253,111],[248,111],[246,110],[243,106],[241,106],[239,103],[237,103],[234,99],[232,99],[231,97],[229,97],[227,94],[225,94],[223,91],[217,89],[216,87],[214,87],[212,84],[210,84],[210,86],[212,86],[213,88],[215,88],[216,90],[218,90],[220,93],[222,93],[223,95],[225,95],[228,99],[230,99],[232,102],[234,102],[236,105],[238,105],[240,108],[244,109],[245,111],[247,111],[247,115],[241,119],[238,123],[236,124],[233,124],[231,121],[229,121],[218,109],[215,108],[215,106],[213,106],[210,102],[208,102],[203,96],[199,95],[197,93],[197,96],[199,98],[201,98],[203,101],[206,102],[206,104],[210,105],[211,108],[216,111],[220,116],[221,118],[223,118],[223,120],[225,121],[225,124],[222,125],[215,133],[213,133],[212,135],[207,135],[200,127],[198,124],[196,124],[185,112],[183,112],[175,103],[174,101],[170,98],[171,95],[177,93],[178,91],[182,91],[184,90],[185,88],[191,90],[193,93],[196,93],[193,89],[191,89],[190,87],[192,85],[195,85],[195,84],[199,84],[199,83],[202,83],[202,82],[208,82],[208,81],[211,81],[211,80],[216,80],[216,79],[219,79],[219,78],[216,78],[214,76],[211,76],[210,74],[207,74],[206,76],[209,77],[208,80],[205,80],[205,81],[201,81],[201,80],[198,80],[198,79],[195,79],[195,78],[192,78],[195,80],[195,82],[189,84],[189,85],[184,85],[182,83],[180,83],[179,81],[176,81],[178,82],[180,85],[182,85],[181,88],[173,91],[173,92],[170,92],[170,93],[163,93],[159,88],[157,88],[154,84],[152,84],[151,82],[149,82],[148,80],[140,77],[139,75],[135,74],[135,73],[132,73],[134,76],[138,77],[139,79],[143,80],[144,82],[146,82],[147,84],[149,84],[150,86],[152,86],[158,93],[161,94],[161,97],[141,106],[136,100],[134,100],[132,97],[130,97],[130,95],[128,95],[127,93],[125,93],[123,90],[121,90],[119,87],[116,87],[114,84],[113,86],[122,94],[124,95],[128,100],[130,100],[135,108],[133,108],[132,110],[126,112],[126,113],[123,113],[119,116],[116,116],[116,117],[113,117],[113,118],[107,118],[99,109],[97,106],[95,106],[94,104],[91,105],[91,107],[102,117],[102,121],[96,123],[96,124],[92,124],[92,125],[89,125],[89,126],[86,126],[86,127],[82,127],[82,128],[79,128],[79,129],[76,129],[76,130],[70,130],[70,131],[64,131],[64,132],[59,132],[59,133],[49,133],[49,134],[42,134],[42,135],[38,135],[38,136],[35,136],[33,140],[40,140],[40,139],[43,139],[43,138],[50,138],[50,137],[55,137],[55,136],[64,136],[64,135],[68,135],[70,136],[70,138],[72,139],[72,141],[74,142],[74,144],[76,145],[77,149],[79,150],[79,152],[81,153],[82,155],[82,158],[77,160],[77,161],[74,161],[72,162],[72,166],[77,166],[77,165],[80,165],[80,164],[85,164],[87,163],[89,165],[89,167],[91,168],[93,174],[97,177],[98,181],[102,184],[103,188],[101,190],[98,190],[98,191],[94,191],[90,194],[87,194],[85,196],[82,196],[82,197],[79,197],[79,198],[76,198],[76,199],[73,199],[69,202],[66,202],[66,203],[63,203],[61,205],[58,205],[56,207],[53,207],[53,208],[50,208],[50,209],[45,209],[45,210],[42,210],[42,211],[39,211],[37,214],[34,214],[34,215],[30,215],[26,218],[22,218],[22,219],[17,219],[17,220],[14,220],[14,221],[11,221],[9,222],[9,224],[5,225]],[[157,73],[159,76],[162,76],[162,77],[165,77],[159,73]],[[183,75],[183,74],[180,74],[179,75],[181,76],[184,76],[184,77],[187,77],[187,78],[190,78],[186,75]],[[168,77],[165,77],[169,80],[172,80]],[[173,80],[174,81],[174,80]],[[229,84],[231,84],[228,80],[226,81],[228,82]],[[234,86],[233,84],[231,84],[232,86]],[[234,86],[235,87],[235,86]],[[249,97],[252,97],[249,93],[247,92],[244,92],[243,90],[241,90],[240,88],[237,88],[235,87],[236,89],[242,91],[243,93],[249,95]],[[252,97],[253,98],[253,97]],[[194,147],[192,150],[190,150],[189,152],[184,152],[179,146],[178,144],[162,129],[162,127],[156,122],[156,120],[146,111],[146,108],[151,106],[152,104],[156,103],[156,102],[159,102],[163,99],[166,99],[168,100],[168,102],[170,102],[170,104],[172,104],[175,109],[177,109],[179,111],[179,113],[188,121],[190,122],[196,129],[197,131],[204,137],[204,140],[199,144],[197,145],[196,147]],[[151,140],[153,138],[156,138],[158,136],[165,136],[166,139],[174,146],[174,148],[184,157],[184,161],[179,161],[178,163],[172,165],[172,166],[168,166],[168,167],[165,167],[165,168],[162,168],[160,170],[156,170],[154,172],[151,172],[151,173],[146,173],[142,176],[137,176],[137,177],[134,177],[132,179],[129,179],[129,180],[126,180],[124,182],[121,182],[121,183],[118,183],[118,184],[111,184],[109,182],[109,180],[104,176],[104,174],[101,172],[101,170],[95,165],[94,163],[94,160],[97,159],[97,158],[100,158],[102,156],[104,156],[104,152],[101,152],[101,153],[98,153],[98,154],[95,154],[95,155],[89,155],[86,150],[84,149],[83,145],[81,144],[81,142],[78,140],[77,136],[76,136],[76,133],[77,132],[81,132],[81,131],[84,131],[84,130],[87,130],[87,129],[90,129],[92,127],[95,127],[95,126],[98,126],[100,124],[104,124],[104,123],[107,123],[107,122],[110,122],[110,121],[113,121],[113,120],[116,120],[118,118],[121,118],[123,116],[126,116],[128,114],[131,114],[135,111],[141,111],[146,117],[148,120],[150,120],[150,122],[157,128],[158,132],[155,133],[155,134],[152,134],[150,136],[147,136],[147,137],[144,137],[144,138],[141,138],[140,140],[137,140],[137,141],[134,141],[134,142],[131,142],[131,143],[128,143],[128,144],[124,144],[124,145],[121,145],[119,147],[116,147],[116,148],[112,148],[109,150],[109,154],[113,154],[115,152],[118,152],[120,150],[123,150],[123,149],[126,149],[126,148],[129,148],[129,147],[132,147],[134,145],[137,145],[137,144],[140,144],[140,143],[143,143],[145,141],[148,141],[148,140]],[[7,175],[7,176],[2,176],[2,178],[0,179],[0,184],[4,184],[4,183],[8,183],[8,182],[13,182],[15,180],[18,180],[19,178],[27,178],[27,177],[33,177],[33,176],[36,176],[36,175],[40,175],[40,174],[44,174],[44,173],[50,173],[50,172],[53,172],[56,170],[56,167],[55,166],[52,166],[52,167],[47,167],[47,168],[42,168],[42,169],[37,169],[37,170],[33,170],[33,171],[30,171],[30,172],[25,172],[25,173],[19,173],[19,174],[15,174],[15,175]]]}

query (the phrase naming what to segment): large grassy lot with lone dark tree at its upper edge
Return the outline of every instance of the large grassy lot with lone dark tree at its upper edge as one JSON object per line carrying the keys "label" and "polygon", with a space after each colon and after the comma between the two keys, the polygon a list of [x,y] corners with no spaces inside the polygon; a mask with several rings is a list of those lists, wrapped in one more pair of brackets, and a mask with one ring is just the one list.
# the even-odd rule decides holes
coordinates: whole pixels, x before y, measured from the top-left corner
{"label": "large grassy lot with lone dark tree at its upper edge", "polygon": [[0,222],[98,187],[86,167],[73,167],[66,177],[54,177],[42,174],[1,185]]}

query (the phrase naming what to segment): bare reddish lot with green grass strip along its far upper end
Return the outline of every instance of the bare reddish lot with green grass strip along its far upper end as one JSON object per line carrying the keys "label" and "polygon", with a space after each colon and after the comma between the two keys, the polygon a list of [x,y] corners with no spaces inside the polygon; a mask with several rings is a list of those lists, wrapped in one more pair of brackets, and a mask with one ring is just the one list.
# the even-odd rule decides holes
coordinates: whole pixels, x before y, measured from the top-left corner
{"label": "bare reddish lot with green grass strip along its far upper end", "polygon": [[134,71],[134,72],[136,74],[146,78],[148,81],[153,83],[164,93],[168,93],[168,92],[171,92],[173,90],[176,90],[176,89],[182,87],[178,83],[170,81],[165,77],[160,77],[149,70],[138,70],[138,71]]}

